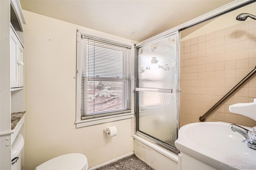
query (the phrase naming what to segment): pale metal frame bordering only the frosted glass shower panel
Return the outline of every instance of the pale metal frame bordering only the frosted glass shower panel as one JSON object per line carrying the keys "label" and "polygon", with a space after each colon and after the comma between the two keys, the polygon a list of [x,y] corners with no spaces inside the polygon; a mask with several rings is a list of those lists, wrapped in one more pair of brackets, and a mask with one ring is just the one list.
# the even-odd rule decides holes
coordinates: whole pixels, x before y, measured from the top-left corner
{"label": "pale metal frame bordering only the frosted glass shower panel", "polygon": [[[138,47],[143,47],[145,45],[149,45],[151,43],[163,40],[164,38],[167,38],[169,36],[175,35],[176,36],[176,71],[177,71],[177,91],[176,91],[176,108],[177,108],[177,115],[176,115],[176,121],[177,121],[177,127],[176,127],[176,135],[178,137],[178,130],[180,127],[180,32],[178,30],[171,32],[169,34],[163,35],[163,36],[159,36],[158,38],[155,38],[154,40],[148,41],[148,42],[142,42],[142,43],[138,43],[135,45],[135,57],[136,57],[136,62],[135,62],[135,73],[136,73],[136,88],[138,88]],[[143,89],[147,89],[147,88],[143,88]],[[161,89],[158,89],[158,92],[161,92]],[[136,132],[135,134],[145,138],[146,140],[149,140],[150,142],[157,144],[175,154],[179,154],[179,151],[177,148],[173,148],[172,146],[165,144],[164,142],[157,140],[156,138],[153,138],[152,136],[149,136],[148,134],[145,134],[144,132],[141,132],[138,130],[138,91],[135,90],[135,110],[136,110]]]}

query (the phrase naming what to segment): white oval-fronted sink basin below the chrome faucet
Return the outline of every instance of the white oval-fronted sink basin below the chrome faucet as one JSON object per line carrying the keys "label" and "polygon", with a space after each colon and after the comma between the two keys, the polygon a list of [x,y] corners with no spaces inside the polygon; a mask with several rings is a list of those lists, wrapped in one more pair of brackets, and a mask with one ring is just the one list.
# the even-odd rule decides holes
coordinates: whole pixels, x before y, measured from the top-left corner
{"label": "white oval-fronted sink basin below the chrome faucet", "polygon": [[[230,123],[200,122],[180,128],[175,146],[216,169],[229,169],[231,165],[256,169],[256,150],[247,147],[247,140],[230,130]],[[250,127],[244,127],[252,130]]]}

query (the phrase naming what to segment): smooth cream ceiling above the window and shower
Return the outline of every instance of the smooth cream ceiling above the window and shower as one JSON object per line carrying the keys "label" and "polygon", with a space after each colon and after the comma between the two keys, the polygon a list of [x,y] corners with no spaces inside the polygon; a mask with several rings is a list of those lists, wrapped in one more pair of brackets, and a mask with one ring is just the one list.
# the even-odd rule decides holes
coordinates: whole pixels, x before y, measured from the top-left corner
{"label": "smooth cream ceiling above the window and shower", "polygon": [[20,0],[23,10],[141,42],[233,0]]}

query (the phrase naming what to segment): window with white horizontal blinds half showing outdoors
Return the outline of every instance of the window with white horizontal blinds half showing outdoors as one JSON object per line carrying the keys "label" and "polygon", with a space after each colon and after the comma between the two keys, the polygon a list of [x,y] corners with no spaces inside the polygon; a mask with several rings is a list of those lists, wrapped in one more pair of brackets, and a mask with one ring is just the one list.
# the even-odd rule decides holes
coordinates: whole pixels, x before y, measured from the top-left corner
{"label": "window with white horizontal blinds half showing outdoors", "polygon": [[130,68],[130,46],[78,34],[76,94],[82,120],[130,112]]}

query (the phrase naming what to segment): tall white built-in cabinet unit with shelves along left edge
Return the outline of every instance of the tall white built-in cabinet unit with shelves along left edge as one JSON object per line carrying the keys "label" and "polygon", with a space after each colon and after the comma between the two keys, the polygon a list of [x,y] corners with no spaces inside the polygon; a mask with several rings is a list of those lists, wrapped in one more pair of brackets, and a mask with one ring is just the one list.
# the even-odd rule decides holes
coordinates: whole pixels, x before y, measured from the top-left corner
{"label": "tall white built-in cabinet unit with shelves along left edge", "polygon": [[[24,136],[24,118],[11,128],[11,113],[25,111],[24,16],[19,0],[0,0],[0,170],[11,170],[12,142]],[[15,31],[14,31],[15,30]],[[24,170],[24,149],[21,152]]]}

